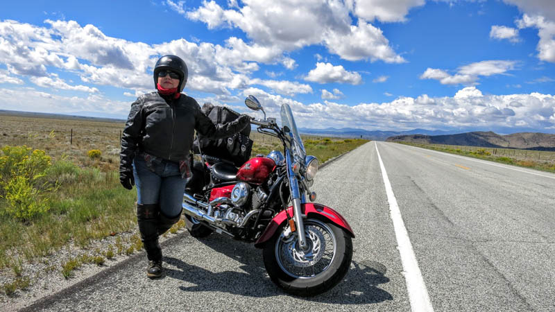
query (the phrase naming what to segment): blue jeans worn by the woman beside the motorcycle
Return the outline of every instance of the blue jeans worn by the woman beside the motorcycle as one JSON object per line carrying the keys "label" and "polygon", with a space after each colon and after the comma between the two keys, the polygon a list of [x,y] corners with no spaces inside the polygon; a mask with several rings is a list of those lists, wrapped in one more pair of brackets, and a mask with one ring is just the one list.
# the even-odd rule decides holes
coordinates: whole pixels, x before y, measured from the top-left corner
{"label": "blue jeans worn by the woman beside the motorcycle", "polygon": [[133,176],[137,186],[137,203],[159,204],[160,212],[168,218],[181,213],[183,192],[188,179],[183,179],[179,165],[159,159],[146,162],[142,154],[133,159]]}

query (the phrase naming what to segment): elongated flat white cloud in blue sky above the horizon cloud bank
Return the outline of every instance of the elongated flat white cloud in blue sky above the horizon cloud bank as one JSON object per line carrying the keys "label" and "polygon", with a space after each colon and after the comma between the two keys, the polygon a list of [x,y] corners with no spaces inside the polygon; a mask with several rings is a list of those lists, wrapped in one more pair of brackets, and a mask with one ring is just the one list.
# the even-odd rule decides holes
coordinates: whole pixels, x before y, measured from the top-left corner
{"label": "elongated flat white cloud in blue sky above the horizon cloud bank", "polygon": [[455,75],[450,75],[443,69],[427,68],[420,79],[439,80],[442,85],[472,85],[480,76],[504,74],[515,69],[517,62],[509,60],[486,60],[459,67]]}

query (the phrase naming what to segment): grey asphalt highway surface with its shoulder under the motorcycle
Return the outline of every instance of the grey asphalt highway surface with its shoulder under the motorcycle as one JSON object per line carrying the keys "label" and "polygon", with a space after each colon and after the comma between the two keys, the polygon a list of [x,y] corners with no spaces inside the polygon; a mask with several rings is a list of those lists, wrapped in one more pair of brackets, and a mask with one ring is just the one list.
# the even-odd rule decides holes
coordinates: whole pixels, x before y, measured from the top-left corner
{"label": "grey asphalt highway surface with its shoulder under the motorcycle", "polygon": [[357,235],[351,269],[332,291],[285,295],[253,245],[185,233],[164,243],[162,279],[146,278],[139,254],[29,309],[416,311],[377,151],[434,311],[555,311],[554,174],[384,142],[318,172],[316,202]]}

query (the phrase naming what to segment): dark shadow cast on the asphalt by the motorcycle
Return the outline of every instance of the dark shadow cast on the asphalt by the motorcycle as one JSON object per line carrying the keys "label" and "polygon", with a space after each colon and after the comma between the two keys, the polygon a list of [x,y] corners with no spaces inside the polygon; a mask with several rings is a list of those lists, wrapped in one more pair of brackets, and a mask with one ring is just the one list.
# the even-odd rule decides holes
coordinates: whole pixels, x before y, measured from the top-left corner
{"label": "dark shadow cast on the asphalt by the motorcycle", "polygon": [[[203,243],[215,252],[239,261],[242,265],[237,268],[239,270],[212,272],[185,263],[181,259],[164,257],[165,262],[176,267],[176,269],[166,267],[166,277],[194,284],[180,286],[182,291],[220,291],[250,297],[287,295],[270,280],[262,262],[262,252],[255,249],[253,245],[215,235],[203,239]],[[222,261],[225,262],[226,259]],[[229,268],[226,263],[222,265]],[[330,304],[369,304],[393,300],[390,293],[378,287],[379,284],[389,282],[385,273],[386,268],[381,263],[353,261],[343,281],[331,291],[316,297],[298,298]]]}

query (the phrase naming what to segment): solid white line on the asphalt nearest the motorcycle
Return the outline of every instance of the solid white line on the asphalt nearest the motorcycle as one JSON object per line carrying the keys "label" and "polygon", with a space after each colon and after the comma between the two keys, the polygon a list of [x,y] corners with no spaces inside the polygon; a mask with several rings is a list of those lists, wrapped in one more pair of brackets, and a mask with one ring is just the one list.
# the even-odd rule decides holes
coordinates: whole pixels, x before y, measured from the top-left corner
{"label": "solid white line on the asphalt nearest the motorcycle", "polygon": [[393,189],[389,183],[389,178],[387,177],[386,168],[382,162],[382,157],[379,156],[379,151],[376,146],[377,159],[379,160],[379,166],[382,168],[382,177],[384,178],[384,184],[386,187],[387,201],[389,202],[389,211],[391,213],[391,220],[393,220],[393,229],[395,229],[395,237],[397,238],[397,243],[399,245],[399,253],[401,255],[401,262],[404,270],[404,279],[407,281],[407,292],[409,293],[409,300],[411,302],[411,310],[416,311],[427,311],[433,312],[434,307],[432,302],[429,300],[428,290],[426,284],[424,284],[424,279],[422,278],[422,272],[418,268],[418,261],[416,261],[416,255],[412,249],[411,239],[409,239],[409,234],[407,233],[407,228],[404,227],[403,218],[401,216],[401,211],[397,205],[397,200],[393,194]]}

